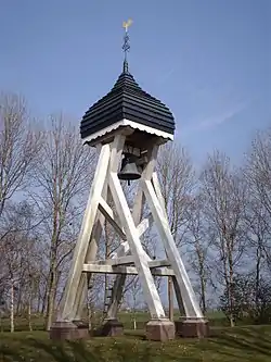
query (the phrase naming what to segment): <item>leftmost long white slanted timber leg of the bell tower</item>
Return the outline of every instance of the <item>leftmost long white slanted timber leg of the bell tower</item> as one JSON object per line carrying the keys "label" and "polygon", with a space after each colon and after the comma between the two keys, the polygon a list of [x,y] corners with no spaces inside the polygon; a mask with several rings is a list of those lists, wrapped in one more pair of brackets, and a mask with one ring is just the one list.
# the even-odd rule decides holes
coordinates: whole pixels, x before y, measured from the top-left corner
{"label": "leftmost long white slanted timber leg of the bell tower", "polygon": [[81,229],[74,250],[73,262],[67,278],[63,303],[61,308],[60,321],[73,320],[76,294],[80,282],[82,265],[86,260],[90,236],[96,217],[98,205],[104,187],[108,162],[111,157],[109,145],[102,146],[96,171],[90,189],[87,209],[85,211]]}

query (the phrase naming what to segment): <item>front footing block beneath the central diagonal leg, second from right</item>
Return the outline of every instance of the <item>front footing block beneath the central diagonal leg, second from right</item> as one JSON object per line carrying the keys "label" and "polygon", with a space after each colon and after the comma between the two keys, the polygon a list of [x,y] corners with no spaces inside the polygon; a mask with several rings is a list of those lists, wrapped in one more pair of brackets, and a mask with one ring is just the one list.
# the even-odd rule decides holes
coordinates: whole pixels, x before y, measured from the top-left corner
{"label": "front footing block beneath the central diagonal leg, second from right", "polygon": [[175,323],[169,320],[151,320],[146,324],[146,339],[167,341],[175,339]]}

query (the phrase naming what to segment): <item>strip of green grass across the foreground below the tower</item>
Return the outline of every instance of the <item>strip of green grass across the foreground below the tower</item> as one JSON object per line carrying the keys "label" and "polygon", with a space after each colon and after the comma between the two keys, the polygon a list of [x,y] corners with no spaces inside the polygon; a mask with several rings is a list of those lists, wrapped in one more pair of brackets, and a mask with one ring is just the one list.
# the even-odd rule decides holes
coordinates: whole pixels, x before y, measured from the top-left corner
{"label": "strip of green grass across the foreground below the tower", "polygon": [[271,326],[214,328],[207,339],[176,339],[167,344],[143,340],[143,332],[85,342],[52,342],[46,332],[0,334],[0,361],[271,361]]}

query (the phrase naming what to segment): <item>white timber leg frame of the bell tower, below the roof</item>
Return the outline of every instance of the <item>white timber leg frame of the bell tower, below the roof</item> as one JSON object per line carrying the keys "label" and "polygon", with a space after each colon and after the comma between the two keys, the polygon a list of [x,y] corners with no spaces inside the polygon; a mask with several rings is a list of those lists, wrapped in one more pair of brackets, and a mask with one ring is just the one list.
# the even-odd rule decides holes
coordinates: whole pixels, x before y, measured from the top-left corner
{"label": "white timber leg frame of the bell tower, below the roof", "polygon": [[[103,140],[103,143],[100,142],[96,146],[100,151],[96,171],[57,316],[57,322],[62,324],[80,321],[81,319],[88,287],[87,273],[116,274],[112,300],[107,310],[107,320],[117,319],[126,275],[139,275],[151,321],[169,323],[154,283],[154,275],[172,276],[177,301],[180,311],[184,309],[186,319],[193,321],[203,321],[204,319],[170,233],[164,199],[155,172],[160,143],[159,137],[152,137],[132,211],[128,207],[117,173],[126,147],[126,139],[132,133],[133,129],[130,127],[121,128],[109,140]],[[107,203],[108,195],[114,201],[118,217],[115,217]],[[144,202],[147,202],[151,214],[149,217],[141,220]],[[122,242],[112,259],[99,261],[96,260],[98,244],[105,219],[120,236]],[[121,223],[118,223],[117,220]],[[156,224],[167,260],[152,260],[143,250],[140,237],[153,222]],[[173,338],[172,333],[171,337],[169,336],[166,339],[171,338]],[[163,338],[158,336],[158,338],[153,339]]]}

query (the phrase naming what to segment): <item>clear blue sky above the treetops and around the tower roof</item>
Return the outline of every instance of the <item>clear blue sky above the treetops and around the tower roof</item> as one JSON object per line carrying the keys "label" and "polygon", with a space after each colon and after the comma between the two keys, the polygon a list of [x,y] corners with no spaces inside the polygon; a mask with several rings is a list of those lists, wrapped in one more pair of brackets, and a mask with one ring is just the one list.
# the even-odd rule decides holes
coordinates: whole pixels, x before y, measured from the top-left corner
{"label": "clear blue sky above the treetops and around the tower roof", "polygon": [[199,165],[214,148],[238,162],[271,124],[270,0],[0,0],[0,88],[33,112],[79,121],[121,71],[167,103],[177,141]]}

